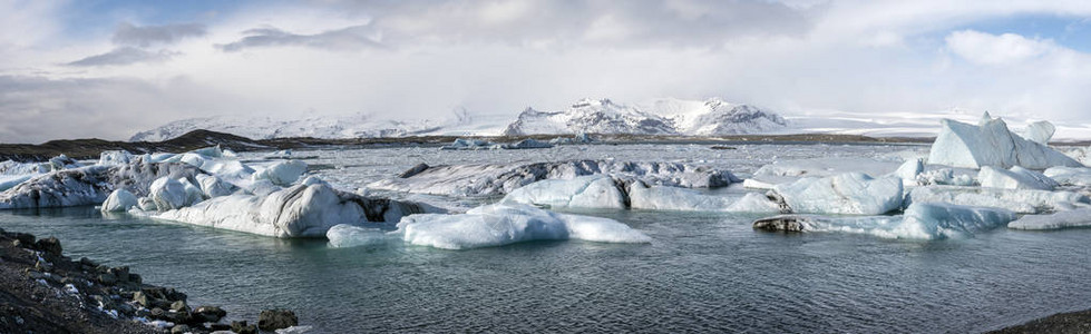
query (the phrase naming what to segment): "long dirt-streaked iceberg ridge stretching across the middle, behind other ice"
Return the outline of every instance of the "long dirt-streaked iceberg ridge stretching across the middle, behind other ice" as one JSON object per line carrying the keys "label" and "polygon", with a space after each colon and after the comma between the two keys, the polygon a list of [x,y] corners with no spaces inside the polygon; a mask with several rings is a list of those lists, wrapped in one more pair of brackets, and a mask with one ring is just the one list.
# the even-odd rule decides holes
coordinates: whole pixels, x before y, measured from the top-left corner
{"label": "long dirt-streaked iceberg ridge stretching across the middle, behind other ice", "polygon": [[543,179],[608,175],[616,179],[685,188],[715,188],[741,181],[727,170],[679,163],[573,160],[533,164],[431,166],[407,177],[383,179],[372,189],[445,196],[499,196]]}

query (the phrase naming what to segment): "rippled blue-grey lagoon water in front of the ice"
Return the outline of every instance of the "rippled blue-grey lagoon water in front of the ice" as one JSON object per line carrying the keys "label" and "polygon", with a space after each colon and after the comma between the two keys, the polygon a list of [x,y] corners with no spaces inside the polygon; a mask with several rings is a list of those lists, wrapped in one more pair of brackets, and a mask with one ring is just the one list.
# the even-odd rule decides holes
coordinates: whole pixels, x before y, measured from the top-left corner
{"label": "rippled blue-grey lagoon water in front of the ice", "polygon": [[594,212],[650,245],[331,248],[92,208],[0,212],[0,227],[130,265],[192,304],[316,332],[978,332],[1091,307],[1091,229],[897,242],[750,228],[753,216]]}

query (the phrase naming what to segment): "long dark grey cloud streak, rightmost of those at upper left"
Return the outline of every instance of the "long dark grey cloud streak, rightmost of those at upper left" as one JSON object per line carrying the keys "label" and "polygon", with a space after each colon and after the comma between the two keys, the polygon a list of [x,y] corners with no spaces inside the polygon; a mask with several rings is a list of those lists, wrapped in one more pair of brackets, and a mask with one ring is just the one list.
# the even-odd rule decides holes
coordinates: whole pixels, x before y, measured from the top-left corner
{"label": "long dark grey cloud streak, rightmost of those at upper left", "polygon": [[293,46],[351,51],[382,47],[374,30],[367,24],[327,30],[314,35],[292,33],[276,28],[251,29],[243,33],[247,36],[237,41],[221,45],[218,46],[220,49],[225,52],[236,52],[249,48]]}

